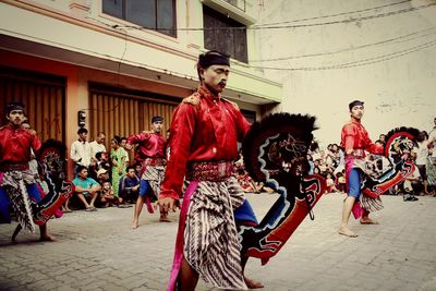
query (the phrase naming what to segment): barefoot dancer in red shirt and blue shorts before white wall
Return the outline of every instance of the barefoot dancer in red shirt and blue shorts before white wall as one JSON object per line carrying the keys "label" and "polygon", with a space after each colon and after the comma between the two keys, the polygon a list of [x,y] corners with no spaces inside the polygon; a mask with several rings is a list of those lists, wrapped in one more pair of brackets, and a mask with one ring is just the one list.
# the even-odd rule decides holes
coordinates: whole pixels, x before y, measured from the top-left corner
{"label": "barefoot dancer in red shirt and blue shorts before white wall", "polygon": [[[341,146],[346,151],[346,177],[348,196],[343,203],[342,221],[339,228],[339,234],[350,238],[358,237],[349,227],[351,211],[361,215],[362,225],[376,225],[377,221],[372,220],[370,211],[365,208],[360,208],[359,198],[361,196],[361,174],[364,174],[365,167],[365,150],[372,154],[382,154],[383,146],[374,144],[368,136],[367,131],[362,125],[362,117],[364,113],[364,102],[355,100],[349,104],[351,120],[343,125],[341,132]],[[377,198],[379,199],[379,198]],[[367,201],[367,198],[366,198]],[[371,203],[371,202],[370,202]],[[377,203],[380,205],[380,202]],[[353,208],[354,207],[354,208]],[[360,211],[360,209],[362,211]]]}

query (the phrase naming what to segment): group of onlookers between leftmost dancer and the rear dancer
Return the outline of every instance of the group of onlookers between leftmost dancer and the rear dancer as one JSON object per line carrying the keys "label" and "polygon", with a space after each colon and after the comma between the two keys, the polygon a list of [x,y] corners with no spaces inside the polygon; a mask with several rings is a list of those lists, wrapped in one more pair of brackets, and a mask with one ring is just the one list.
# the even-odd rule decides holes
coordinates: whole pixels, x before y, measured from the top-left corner
{"label": "group of onlookers between leftmost dancer and the rear dancer", "polygon": [[[128,138],[113,136],[107,150],[104,132],[92,143],[87,142],[87,134],[86,129],[80,129],[78,140],[71,145],[70,157],[75,163],[72,198],[87,211],[95,211],[96,207],[130,207],[140,192],[141,163],[130,163]],[[62,210],[71,211],[69,201]]]}

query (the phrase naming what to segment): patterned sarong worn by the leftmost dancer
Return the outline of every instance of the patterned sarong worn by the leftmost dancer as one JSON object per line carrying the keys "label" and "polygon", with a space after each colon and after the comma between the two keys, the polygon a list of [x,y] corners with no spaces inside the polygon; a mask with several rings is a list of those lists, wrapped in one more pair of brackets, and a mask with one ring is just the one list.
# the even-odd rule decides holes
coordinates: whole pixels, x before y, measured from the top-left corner
{"label": "patterned sarong worn by the leftmost dancer", "polygon": [[12,203],[16,220],[24,229],[31,232],[35,231],[35,223],[26,185],[34,183],[34,174],[31,170],[25,170],[5,172],[1,184]]}

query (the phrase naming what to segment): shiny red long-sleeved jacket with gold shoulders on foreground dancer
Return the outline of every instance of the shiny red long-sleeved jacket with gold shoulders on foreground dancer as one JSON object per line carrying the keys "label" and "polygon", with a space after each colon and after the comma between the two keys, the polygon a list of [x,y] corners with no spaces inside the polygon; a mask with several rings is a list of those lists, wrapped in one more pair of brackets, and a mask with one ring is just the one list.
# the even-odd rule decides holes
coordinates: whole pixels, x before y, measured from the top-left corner
{"label": "shiny red long-sleeved jacket with gold shoulders on foreground dancer", "polygon": [[179,199],[187,162],[232,161],[251,124],[239,108],[199,87],[174,110],[159,197]]}

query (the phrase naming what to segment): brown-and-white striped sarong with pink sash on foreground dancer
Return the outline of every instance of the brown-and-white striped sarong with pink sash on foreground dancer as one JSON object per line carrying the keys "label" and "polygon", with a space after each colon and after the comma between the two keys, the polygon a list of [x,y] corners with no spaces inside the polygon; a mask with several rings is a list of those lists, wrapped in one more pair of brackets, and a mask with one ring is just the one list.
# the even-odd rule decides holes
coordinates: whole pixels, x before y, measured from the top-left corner
{"label": "brown-and-white striped sarong with pink sash on foreground dancer", "polygon": [[[183,208],[187,208],[184,243],[178,241],[177,248],[183,244],[183,256],[208,286],[245,290],[241,245],[233,218],[233,209],[244,203],[243,189],[234,177],[220,182],[194,181],[191,184],[186,182],[187,184],[184,199],[191,199],[183,201],[181,213],[183,220]],[[177,251],[168,290],[173,290],[180,259]]]}

